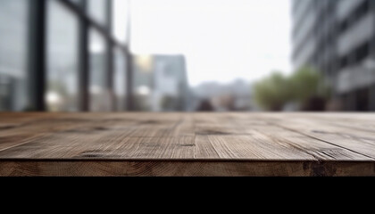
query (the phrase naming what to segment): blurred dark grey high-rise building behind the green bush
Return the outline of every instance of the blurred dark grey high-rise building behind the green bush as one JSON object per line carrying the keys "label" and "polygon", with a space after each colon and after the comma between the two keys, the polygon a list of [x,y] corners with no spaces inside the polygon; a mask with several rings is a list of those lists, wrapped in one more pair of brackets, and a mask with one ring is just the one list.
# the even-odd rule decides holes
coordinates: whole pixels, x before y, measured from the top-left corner
{"label": "blurred dark grey high-rise building behind the green bush", "polygon": [[295,70],[323,72],[342,110],[375,110],[375,1],[293,0]]}

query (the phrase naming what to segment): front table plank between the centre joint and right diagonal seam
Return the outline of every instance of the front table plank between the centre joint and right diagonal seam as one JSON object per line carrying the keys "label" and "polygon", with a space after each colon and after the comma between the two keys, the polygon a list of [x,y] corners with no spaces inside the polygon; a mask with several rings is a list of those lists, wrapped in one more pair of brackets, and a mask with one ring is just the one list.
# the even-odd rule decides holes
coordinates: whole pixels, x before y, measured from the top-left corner
{"label": "front table plank between the centre joint and right diagonal seam", "polygon": [[[196,124],[196,158],[215,157],[221,159],[246,160],[373,160],[356,152],[327,144],[294,131],[272,126],[254,114],[222,114],[222,128],[218,120]],[[211,119],[211,118],[210,118]],[[215,119],[218,119],[215,115]],[[213,122],[213,123],[212,123]],[[214,124],[212,126],[212,124]],[[220,129],[217,129],[219,127]],[[226,130],[221,131],[221,130]],[[216,136],[203,134],[214,133]],[[202,135],[202,136],[200,136]]]}

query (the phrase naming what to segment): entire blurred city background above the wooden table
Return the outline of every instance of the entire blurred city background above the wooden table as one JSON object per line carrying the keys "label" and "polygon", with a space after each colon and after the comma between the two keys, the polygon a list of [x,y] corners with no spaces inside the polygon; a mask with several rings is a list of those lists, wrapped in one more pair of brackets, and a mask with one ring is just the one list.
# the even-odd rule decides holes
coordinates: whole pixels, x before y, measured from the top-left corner
{"label": "entire blurred city background above the wooden table", "polygon": [[0,111],[375,111],[375,0],[0,0]]}

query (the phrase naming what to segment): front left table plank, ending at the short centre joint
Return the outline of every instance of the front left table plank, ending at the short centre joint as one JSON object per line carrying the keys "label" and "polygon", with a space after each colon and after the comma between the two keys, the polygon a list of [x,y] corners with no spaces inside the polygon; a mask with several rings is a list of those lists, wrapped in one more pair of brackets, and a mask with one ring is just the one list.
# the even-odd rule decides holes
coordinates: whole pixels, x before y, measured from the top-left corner
{"label": "front left table plank, ending at the short centre joint", "polygon": [[134,137],[131,130],[59,132],[0,152],[18,159],[193,159],[194,136]]}

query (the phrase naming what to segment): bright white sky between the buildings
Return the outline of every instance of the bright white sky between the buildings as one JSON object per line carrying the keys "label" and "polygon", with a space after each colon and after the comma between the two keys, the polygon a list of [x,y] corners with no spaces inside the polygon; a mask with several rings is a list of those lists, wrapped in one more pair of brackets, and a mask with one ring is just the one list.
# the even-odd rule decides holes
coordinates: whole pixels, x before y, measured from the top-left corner
{"label": "bright white sky between the buildings", "polygon": [[191,86],[290,66],[290,0],[133,0],[133,53],[182,53]]}

